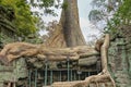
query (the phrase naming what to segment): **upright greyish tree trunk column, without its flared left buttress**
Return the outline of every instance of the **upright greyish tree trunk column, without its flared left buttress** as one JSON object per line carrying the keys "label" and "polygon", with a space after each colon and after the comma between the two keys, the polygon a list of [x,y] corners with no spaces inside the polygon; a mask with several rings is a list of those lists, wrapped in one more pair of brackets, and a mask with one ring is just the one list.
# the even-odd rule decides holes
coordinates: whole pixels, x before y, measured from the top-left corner
{"label": "upright greyish tree trunk column, without its flared left buttress", "polygon": [[64,0],[64,2],[68,2],[68,8],[63,11],[66,44],[68,47],[83,46],[85,45],[85,40],[79,23],[78,0]]}

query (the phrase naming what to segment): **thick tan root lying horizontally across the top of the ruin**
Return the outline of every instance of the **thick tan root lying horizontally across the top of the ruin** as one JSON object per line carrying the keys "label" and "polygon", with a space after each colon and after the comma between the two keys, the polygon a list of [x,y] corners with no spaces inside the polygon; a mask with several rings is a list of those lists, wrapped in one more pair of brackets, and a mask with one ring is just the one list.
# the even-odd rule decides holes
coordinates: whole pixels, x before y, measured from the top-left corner
{"label": "thick tan root lying horizontally across the top of the ruin", "polygon": [[0,52],[0,60],[8,64],[20,57],[37,58],[40,61],[64,61],[79,60],[90,55],[99,54],[94,48],[88,46],[78,46],[73,48],[47,48],[44,45],[31,45],[26,42],[13,42],[7,45]]}

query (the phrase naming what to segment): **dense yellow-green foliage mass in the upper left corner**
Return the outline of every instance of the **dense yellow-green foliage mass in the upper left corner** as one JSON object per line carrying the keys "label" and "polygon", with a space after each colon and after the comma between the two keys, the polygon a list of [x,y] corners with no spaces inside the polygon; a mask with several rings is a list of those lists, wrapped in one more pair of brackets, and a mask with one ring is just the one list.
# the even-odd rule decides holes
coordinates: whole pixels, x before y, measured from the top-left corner
{"label": "dense yellow-green foliage mass in the upper left corner", "polygon": [[19,35],[27,36],[36,33],[37,17],[32,15],[29,5],[25,0],[1,0],[0,4],[14,11],[15,20],[12,22]]}

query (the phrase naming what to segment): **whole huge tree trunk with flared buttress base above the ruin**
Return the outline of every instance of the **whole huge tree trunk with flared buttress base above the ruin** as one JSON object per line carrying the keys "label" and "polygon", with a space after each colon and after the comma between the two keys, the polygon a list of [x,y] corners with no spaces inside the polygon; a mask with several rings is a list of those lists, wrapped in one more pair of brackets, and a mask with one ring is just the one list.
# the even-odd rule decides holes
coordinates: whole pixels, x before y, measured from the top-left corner
{"label": "whole huge tree trunk with flared buttress base above the ruin", "polygon": [[80,28],[78,0],[64,0],[64,2],[68,3],[68,8],[62,10],[60,22],[45,45],[56,48],[85,46]]}

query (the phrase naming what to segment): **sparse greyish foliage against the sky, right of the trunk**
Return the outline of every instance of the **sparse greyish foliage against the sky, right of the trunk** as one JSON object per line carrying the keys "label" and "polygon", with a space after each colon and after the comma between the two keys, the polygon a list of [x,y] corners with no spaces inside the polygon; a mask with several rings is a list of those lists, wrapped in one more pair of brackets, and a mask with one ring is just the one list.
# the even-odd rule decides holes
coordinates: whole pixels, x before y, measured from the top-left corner
{"label": "sparse greyish foliage against the sky, right of the trunk", "polygon": [[99,25],[98,22],[107,22],[115,12],[116,0],[93,0],[92,5],[94,10],[90,12],[88,18],[95,25]]}

